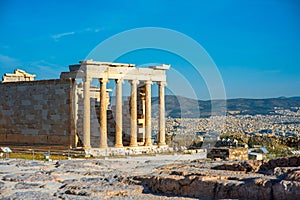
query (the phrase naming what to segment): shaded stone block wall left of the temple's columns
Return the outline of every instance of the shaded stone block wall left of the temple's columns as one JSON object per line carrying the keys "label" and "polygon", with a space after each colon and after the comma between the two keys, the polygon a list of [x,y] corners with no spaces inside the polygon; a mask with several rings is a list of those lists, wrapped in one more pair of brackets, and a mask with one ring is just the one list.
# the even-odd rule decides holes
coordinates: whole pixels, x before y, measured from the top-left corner
{"label": "shaded stone block wall left of the temple's columns", "polygon": [[75,146],[70,80],[0,84],[0,144]]}

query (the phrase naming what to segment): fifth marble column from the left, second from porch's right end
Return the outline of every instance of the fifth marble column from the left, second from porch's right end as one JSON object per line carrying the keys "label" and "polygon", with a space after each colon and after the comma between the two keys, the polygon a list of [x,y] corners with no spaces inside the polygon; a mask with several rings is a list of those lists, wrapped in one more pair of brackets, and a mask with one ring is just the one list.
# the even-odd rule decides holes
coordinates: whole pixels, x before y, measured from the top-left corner
{"label": "fifth marble column from the left, second from porch's right end", "polygon": [[151,140],[151,84],[152,81],[145,81],[145,96],[146,96],[146,109],[145,109],[145,146],[152,146]]}

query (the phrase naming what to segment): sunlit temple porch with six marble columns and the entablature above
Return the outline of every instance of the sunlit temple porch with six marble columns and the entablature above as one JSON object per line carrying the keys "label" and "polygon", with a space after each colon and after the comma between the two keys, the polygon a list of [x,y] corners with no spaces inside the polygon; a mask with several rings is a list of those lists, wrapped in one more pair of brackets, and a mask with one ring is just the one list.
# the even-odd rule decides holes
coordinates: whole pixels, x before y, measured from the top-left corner
{"label": "sunlit temple porch with six marble columns and the entablature above", "polygon": [[[78,136],[83,139],[84,148],[91,147],[91,81],[97,79],[100,84],[100,141],[99,148],[108,147],[108,94],[107,83],[116,83],[116,105],[115,105],[115,147],[123,147],[123,128],[126,129],[129,123],[123,123],[124,105],[122,85],[127,81],[131,86],[129,100],[130,107],[130,147],[151,146],[151,84],[156,83],[159,88],[159,136],[158,145],[165,143],[165,103],[164,87],[166,85],[166,73],[169,65],[150,66],[149,68],[137,68],[133,64],[96,62],[93,60],[82,61],[76,65],[70,65],[70,72],[61,73],[61,79],[82,80],[83,91],[83,126],[80,131],[77,126]],[[78,85],[76,85],[78,87]],[[80,86],[79,86],[80,88]],[[77,88],[78,91],[78,88]],[[78,92],[77,92],[78,93]],[[95,92],[92,92],[95,96]],[[74,97],[76,98],[76,97]],[[76,102],[78,104],[78,102]],[[126,108],[125,108],[126,110]],[[75,110],[75,118],[78,110]],[[127,126],[126,126],[127,125]],[[95,132],[94,132],[95,134]]]}

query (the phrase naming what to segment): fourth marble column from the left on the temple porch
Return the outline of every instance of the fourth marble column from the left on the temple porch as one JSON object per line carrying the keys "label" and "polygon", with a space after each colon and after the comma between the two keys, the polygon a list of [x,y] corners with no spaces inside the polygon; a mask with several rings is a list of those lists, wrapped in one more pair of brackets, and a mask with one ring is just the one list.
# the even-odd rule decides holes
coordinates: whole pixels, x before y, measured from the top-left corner
{"label": "fourth marble column from the left on the temple porch", "polygon": [[131,80],[130,96],[130,146],[137,146],[137,84],[139,81]]}

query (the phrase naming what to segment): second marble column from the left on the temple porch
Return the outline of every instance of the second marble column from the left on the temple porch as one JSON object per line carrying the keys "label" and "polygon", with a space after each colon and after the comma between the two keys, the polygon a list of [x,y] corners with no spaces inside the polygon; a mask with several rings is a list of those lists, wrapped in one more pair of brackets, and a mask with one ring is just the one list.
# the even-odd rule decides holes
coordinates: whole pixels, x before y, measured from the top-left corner
{"label": "second marble column from the left on the temple porch", "polygon": [[106,83],[108,79],[100,79],[100,148],[107,148],[107,98]]}

